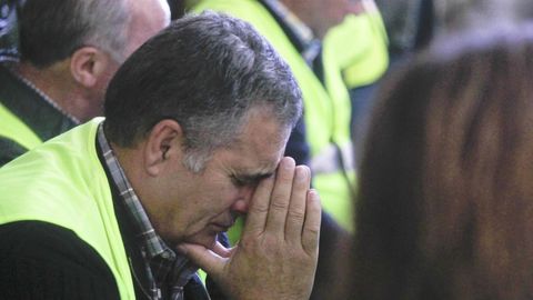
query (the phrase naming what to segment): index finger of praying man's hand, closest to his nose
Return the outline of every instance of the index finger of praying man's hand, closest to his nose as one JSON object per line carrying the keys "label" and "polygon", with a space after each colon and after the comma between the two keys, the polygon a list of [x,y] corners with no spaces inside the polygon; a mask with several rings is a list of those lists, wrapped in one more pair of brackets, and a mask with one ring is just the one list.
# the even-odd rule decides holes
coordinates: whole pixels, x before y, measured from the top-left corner
{"label": "index finger of praying man's hand, closest to his nose", "polygon": [[259,236],[264,231],[266,216],[270,207],[270,196],[274,187],[274,177],[261,180],[255,192],[253,193],[248,210],[244,228],[242,229],[242,238],[247,236]]}

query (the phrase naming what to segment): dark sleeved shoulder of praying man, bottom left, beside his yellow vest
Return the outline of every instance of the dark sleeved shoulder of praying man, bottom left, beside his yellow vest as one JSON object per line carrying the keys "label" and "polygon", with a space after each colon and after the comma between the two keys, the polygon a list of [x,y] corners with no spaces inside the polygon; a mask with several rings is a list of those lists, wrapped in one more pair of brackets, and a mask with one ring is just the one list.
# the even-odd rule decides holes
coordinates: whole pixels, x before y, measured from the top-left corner
{"label": "dark sleeved shoulder of praying man, bottom left, beside his yellow vest", "polygon": [[11,299],[119,299],[107,263],[73,231],[19,221],[0,226],[0,290]]}

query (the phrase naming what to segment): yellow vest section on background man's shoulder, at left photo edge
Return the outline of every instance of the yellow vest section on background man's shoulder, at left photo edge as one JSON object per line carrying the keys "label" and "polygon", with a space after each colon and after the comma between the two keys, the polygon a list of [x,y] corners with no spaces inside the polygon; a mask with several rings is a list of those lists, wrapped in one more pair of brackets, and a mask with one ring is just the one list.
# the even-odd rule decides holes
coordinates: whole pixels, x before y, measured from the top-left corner
{"label": "yellow vest section on background man's shoulder, at left photo edge", "polygon": [[42,143],[41,139],[17,116],[0,103],[0,137],[18,142],[26,149],[32,149]]}

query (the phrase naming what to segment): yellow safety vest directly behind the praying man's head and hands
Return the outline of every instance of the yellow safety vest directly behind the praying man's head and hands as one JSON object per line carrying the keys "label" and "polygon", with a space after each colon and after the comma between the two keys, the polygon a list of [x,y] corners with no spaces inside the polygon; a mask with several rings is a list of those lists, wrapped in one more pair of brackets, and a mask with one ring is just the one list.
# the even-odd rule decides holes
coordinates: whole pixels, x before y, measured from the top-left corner
{"label": "yellow safety vest directly behind the praying man's head and hands", "polygon": [[[332,151],[333,148],[341,148],[342,153],[349,153],[343,159],[353,160],[350,137],[350,96],[338,66],[324,63],[325,89],[273,16],[257,0],[197,0],[193,2],[195,6],[192,10],[195,12],[221,11],[250,22],[289,63],[303,94],[313,186],[320,192],[324,210],[351,230],[355,172],[353,164],[350,164],[344,176],[335,164],[338,156],[332,154],[336,153]],[[325,57],[324,61],[328,61]]]}

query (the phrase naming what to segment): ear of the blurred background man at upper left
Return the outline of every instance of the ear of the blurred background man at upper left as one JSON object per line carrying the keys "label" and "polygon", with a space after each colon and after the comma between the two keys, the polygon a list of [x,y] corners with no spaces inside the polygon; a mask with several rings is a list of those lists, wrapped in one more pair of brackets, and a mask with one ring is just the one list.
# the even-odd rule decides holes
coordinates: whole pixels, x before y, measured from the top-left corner
{"label": "ear of the blurred background man at upper left", "polygon": [[111,58],[98,48],[82,47],[70,57],[70,72],[79,84],[92,88],[110,62]]}

